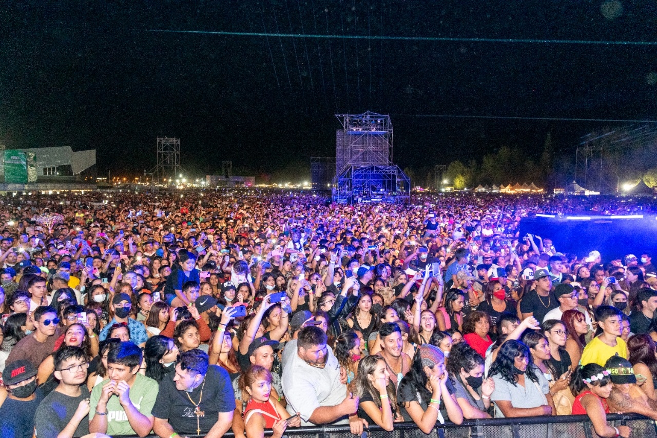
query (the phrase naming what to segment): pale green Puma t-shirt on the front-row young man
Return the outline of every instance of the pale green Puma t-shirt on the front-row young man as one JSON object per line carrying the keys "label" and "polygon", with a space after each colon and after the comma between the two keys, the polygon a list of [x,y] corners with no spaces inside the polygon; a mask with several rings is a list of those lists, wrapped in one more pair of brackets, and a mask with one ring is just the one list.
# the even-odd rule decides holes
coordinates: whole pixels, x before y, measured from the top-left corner
{"label": "pale green Puma t-shirt on the front-row young man", "polygon": [[[91,410],[89,410],[89,421],[96,414],[98,407],[98,401],[101,399],[102,387],[109,380],[103,380],[99,385],[93,387],[91,391]],[[147,417],[150,417],[150,410],[155,404],[155,399],[158,397],[158,382],[142,376],[137,373],[135,378],[135,383],[133,383],[130,388],[130,400],[132,404],[135,405],[135,408],[139,410],[142,414]],[[119,397],[117,395],[112,395],[110,400],[107,402],[107,435],[137,435],[132,427],[130,427],[130,422],[127,420],[127,414],[121,403],[119,403]]]}

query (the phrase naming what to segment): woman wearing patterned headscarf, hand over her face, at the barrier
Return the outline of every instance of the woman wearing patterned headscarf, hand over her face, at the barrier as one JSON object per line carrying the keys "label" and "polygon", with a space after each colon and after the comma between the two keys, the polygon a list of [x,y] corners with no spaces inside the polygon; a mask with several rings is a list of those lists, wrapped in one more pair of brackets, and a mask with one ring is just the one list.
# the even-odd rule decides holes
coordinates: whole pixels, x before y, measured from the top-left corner
{"label": "woman wearing patterned headscarf, hand over her face, at the barrier", "polygon": [[399,383],[397,403],[404,421],[415,422],[422,432],[430,433],[436,422],[445,421],[445,416],[454,424],[463,423],[455,392],[445,371],[443,353],[434,345],[424,344]]}

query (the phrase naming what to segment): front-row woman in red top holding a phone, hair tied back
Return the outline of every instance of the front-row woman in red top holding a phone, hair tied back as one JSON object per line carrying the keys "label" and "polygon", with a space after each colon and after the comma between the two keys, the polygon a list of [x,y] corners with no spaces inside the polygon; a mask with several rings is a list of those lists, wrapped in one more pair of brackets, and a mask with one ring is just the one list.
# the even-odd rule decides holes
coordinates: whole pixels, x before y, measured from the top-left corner
{"label": "front-row woman in red top holding a phone, hair tied back", "polygon": [[301,426],[299,412],[288,424],[286,420],[290,418],[290,414],[277,399],[270,397],[271,372],[266,368],[250,366],[240,376],[238,385],[242,397],[248,395],[248,403],[242,414],[246,438],[263,438],[265,429],[273,429],[272,438],[281,438],[288,426]]}

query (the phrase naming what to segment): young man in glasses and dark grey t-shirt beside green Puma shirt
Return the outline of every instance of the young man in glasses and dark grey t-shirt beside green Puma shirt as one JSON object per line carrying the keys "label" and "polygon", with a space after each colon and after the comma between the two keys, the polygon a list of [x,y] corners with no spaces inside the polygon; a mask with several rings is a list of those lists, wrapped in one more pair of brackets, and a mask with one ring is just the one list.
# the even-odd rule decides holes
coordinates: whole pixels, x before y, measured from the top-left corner
{"label": "young man in glasses and dark grey t-shirt beside green Puma shirt", "polygon": [[89,356],[75,345],[53,353],[57,387],[41,401],[34,418],[39,438],[72,438],[89,435]]}

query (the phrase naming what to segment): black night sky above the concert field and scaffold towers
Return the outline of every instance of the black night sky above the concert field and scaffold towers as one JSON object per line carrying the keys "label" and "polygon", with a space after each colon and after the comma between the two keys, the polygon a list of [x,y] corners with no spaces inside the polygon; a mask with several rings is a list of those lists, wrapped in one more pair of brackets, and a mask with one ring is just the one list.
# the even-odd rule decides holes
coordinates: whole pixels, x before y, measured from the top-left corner
{"label": "black night sky above the concert field and scaffold towers", "polygon": [[[264,37],[185,30],[657,41],[654,1],[6,1],[0,144],[97,148],[99,172],[143,173],[178,137],[191,175],[222,160],[272,173],[334,156],[334,114],[390,114],[395,161],[537,159],[618,123],[417,117],[650,119],[657,45]],[[309,165],[307,165],[309,167]],[[303,172],[307,173],[307,170]]]}

